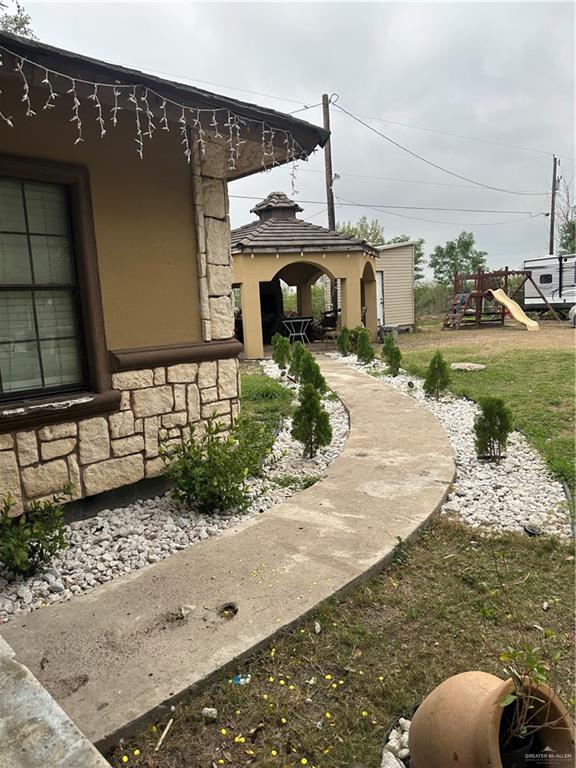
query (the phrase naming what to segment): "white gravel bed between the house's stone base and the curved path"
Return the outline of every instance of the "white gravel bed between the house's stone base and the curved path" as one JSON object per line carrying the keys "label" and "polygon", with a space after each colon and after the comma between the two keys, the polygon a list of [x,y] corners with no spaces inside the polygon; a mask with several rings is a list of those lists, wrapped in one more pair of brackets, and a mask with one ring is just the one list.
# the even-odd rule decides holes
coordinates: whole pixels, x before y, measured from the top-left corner
{"label": "white gravel bed between the house's stone base and the curved path", "polygon": [[[273,378],[281,378],[274,363],[266,362],[263,368]],[[293,383],[284,383],[297,390]],[[252,503],[246,513],[202,515],[185,509],[166,494],[126,507],[105,509],[95,517],[66,526],[69,547],[50,567],[34,576],[12,578],[0,565],[0,625],[218,535],[303,487],[299,483],[283,487],[277,481],[287,481],[289,476],[302,481],[319,478],[341,452],[349,430],[348,413],[340,400],[325,399],[324,407],[330,414],[332,443],[315,458],[303,459],[301,444],[290,436],[291,420],[286,419],[267,459],[265,477],[248,481]]]}

